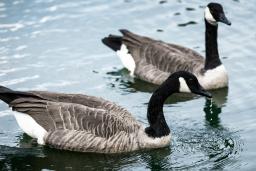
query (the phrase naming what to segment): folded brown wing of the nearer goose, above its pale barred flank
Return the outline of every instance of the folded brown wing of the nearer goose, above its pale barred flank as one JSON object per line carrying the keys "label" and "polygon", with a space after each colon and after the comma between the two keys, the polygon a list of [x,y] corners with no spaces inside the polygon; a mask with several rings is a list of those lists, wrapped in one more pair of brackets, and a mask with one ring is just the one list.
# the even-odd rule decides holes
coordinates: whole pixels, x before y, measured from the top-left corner
{"label": "folded brown wing of the nearer goose, above its pale barred flank", "polygon": [[[65,100],[67,99],[69,98],[65,98]],[[13,100],[9,105],[14,111],[29,114],[47,131],[82,130],[105,138],[119,131],[134,131],[133,126],[129,127],[129,124],[127,126],[123,123],[123,119],[126,118],[125,115],[118,115],[116,112],[112,114],[108,110],[81,104],[24,97]],[[111,106],[109,107],[111,109]],[[126,119],[133,121],[131,117]]]}

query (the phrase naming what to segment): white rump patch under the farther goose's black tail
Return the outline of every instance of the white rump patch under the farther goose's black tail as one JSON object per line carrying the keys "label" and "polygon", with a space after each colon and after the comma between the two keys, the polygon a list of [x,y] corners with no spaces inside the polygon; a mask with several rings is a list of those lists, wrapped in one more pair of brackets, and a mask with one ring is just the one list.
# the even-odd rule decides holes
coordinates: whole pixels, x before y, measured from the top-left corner
{"label": "white rump patch under the farther goose's black tail", "polygon": [[129,51],[124,44],[121,45],[120,50],[116,51],[124,67],[127,68],[130,71],[130,74],[133,76],[136,65],[132,55],[128,52]]}

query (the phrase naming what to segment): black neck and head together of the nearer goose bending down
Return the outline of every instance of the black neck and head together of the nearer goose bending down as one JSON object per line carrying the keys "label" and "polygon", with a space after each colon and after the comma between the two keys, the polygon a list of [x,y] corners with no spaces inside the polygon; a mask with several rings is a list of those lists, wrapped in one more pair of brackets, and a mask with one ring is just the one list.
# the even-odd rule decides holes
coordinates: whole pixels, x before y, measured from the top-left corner
{"label": "black neck and head together of the nearer goose bending down", "polygon": [[171,74],[155,90],[149,100],[147,118],[150,126],[145,129],[149,137],[163,137],[170,134],[170,129],[164,119],[163,105],[170,95],[179,92],[191,92],[208,98],[212,97],[203,89],[193,74],[186,71]]}

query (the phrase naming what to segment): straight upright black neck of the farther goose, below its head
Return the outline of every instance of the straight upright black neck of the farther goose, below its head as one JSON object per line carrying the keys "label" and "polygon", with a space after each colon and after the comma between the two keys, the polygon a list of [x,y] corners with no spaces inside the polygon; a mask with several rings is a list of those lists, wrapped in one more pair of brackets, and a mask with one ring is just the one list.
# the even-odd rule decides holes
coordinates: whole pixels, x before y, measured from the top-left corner
{"label": "straight upright black neck of the farther goose, below its head", "polygon": [[218,25],[211,25],[205,20],[205,48],[206,48],[206,60],[204,69],[213,69],[221,65],[218,52]]}

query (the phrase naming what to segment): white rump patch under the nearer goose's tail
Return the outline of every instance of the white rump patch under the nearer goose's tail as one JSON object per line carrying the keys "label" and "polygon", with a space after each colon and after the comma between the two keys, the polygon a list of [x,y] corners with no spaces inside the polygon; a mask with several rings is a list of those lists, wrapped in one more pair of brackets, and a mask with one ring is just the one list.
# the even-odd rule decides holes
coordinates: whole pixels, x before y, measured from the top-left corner
{"label": "white rump patch under the nearer goose's tail", "polygon": [[44,136],[47,131],[40,126],[31,116],[23,113],[15,112],[14,116],[18,122],[20,128],[32,138],[37,139],[37,143],[44,145]]}

